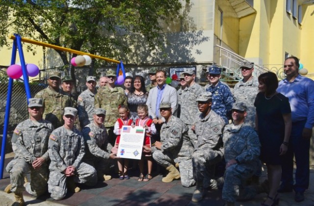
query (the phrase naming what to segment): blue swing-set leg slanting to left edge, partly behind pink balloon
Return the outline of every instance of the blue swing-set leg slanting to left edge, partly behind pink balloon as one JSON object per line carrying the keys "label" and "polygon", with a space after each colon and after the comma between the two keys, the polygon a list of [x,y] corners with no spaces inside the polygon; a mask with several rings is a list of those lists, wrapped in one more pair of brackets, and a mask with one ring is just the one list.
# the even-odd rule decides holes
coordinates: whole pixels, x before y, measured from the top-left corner
{"label": "blue swing-set leg slanting to left edge, partly behind pink balloon", "polygon": [[[15,64],[16,49],[17,49],[17,43],[16,43],[16,40],[14,40],[13,41],[13,48],[12,48],[11,65]],[[10,117],[12,87],[13,87],[13,79],[9,78],[8,93],[7,93],[7,97],[6,97],[6,106],[5,106],[5,115],[4,115],[2,146],[1,146],[0,180],[2,180],[2,178],[3,178],[3,169],[4,169],[3,167],[4,167],[4,159],[5,159],[5,145],[6,145],[6,137],[7,137],[7,133],[8,133],[8,125],[9,125],[9,117]]]}

